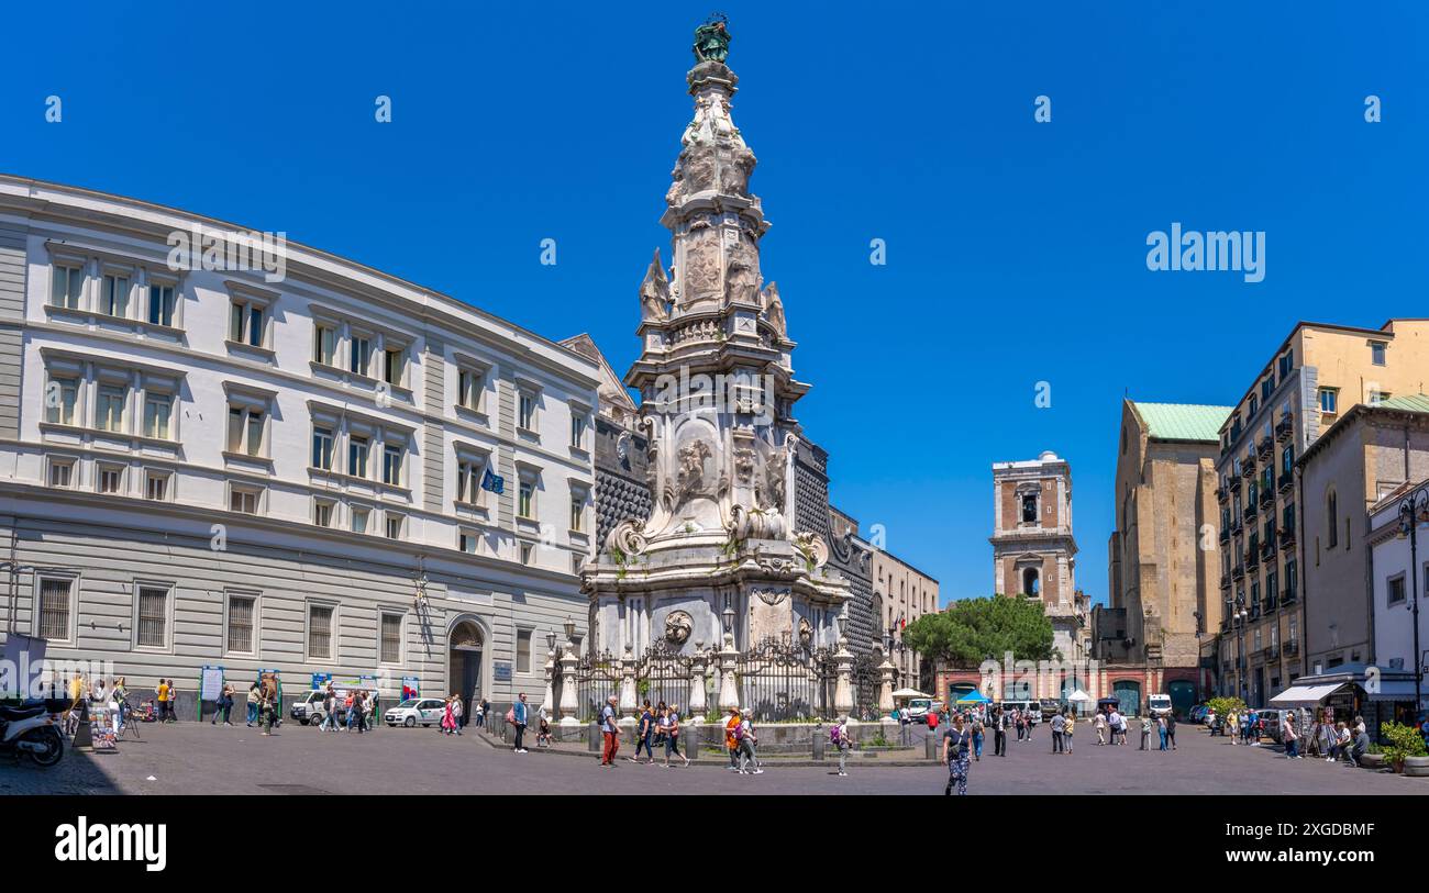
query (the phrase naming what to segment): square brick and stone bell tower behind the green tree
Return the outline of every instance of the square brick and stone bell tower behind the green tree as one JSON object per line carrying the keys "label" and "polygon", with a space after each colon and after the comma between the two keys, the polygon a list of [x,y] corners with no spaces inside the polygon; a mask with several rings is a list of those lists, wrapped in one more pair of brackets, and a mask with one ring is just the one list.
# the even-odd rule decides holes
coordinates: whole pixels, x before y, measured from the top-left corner
{"label": "square brick and stone bell tower behind the green tree", "polygon": [[1076,539],[1072,536],[1072,466],[1052,450],[1026,462],[996,462],[993,482],[993,592],[1040,599],[1052,619],[1052,646],[1079,657]]}

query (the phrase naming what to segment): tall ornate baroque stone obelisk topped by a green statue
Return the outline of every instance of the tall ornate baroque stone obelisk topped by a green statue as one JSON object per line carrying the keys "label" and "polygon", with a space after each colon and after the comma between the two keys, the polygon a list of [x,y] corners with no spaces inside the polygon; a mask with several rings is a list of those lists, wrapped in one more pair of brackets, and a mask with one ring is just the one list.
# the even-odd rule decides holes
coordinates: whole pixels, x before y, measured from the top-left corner
{"label": "tall ornate baroque stone obelisk topped by a green statue", "polygon": [[739,79],[723,19],[700,26],[693,49],[694,119],[660,219],[673,267],[656,251],[646,270],[642,356],[624,379],[642,394],[654,506],[612,529],[582,582],[597,650],[663,643],[732,666],[766,639],[839,647],[850,593],[825,542],[792,529],[792,411],[809,386],[793,377],[785,306],[760,273],[769,223],[749,191],[755,153],[730,117]]}

